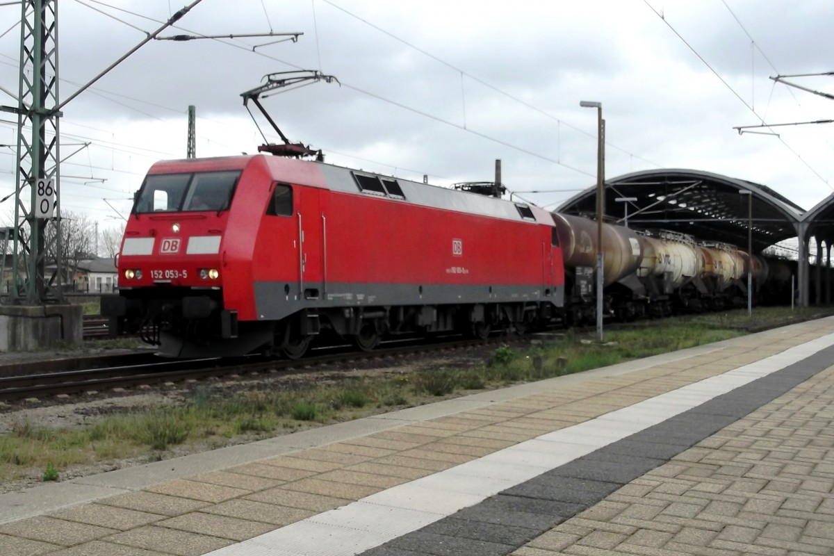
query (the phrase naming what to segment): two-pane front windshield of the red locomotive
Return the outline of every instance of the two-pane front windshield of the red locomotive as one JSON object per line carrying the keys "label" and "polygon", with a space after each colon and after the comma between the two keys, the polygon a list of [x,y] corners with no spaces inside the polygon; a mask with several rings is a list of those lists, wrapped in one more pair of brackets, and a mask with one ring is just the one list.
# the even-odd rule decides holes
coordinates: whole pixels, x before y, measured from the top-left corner
{"label": "two-pane front windshield of the red locomotive", "polygon": [[148,176],[139,189],[133,213],[226,210],[239,177],[239,170]]}

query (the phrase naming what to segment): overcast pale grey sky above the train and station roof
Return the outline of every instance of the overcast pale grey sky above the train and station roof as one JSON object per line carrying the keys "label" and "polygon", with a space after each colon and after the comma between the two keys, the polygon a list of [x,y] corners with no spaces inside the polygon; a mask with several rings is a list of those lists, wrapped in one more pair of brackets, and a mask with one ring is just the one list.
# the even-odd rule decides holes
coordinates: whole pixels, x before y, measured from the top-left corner
{"label": "overcast pale grey sky above the train and station roof", "polygon": [[[184,5],[61,0],[60,97]],[[13,93],[19,19],[19,6],[0,6],[0,33],[10,29],[0,88]],[[588,100],[603,105],[608,178],[705,170],[811,208],[834,190],[834,124],[773,128],[779,137],[733,127],[834,117],[834,101],[769,79],[834,71],[831,29],[831,0],[203,0],[161,36],[304,34],[139,49],[63,108],[62,157],[90,143],[63,164],[63,208],[105,226],[126,216],[148,167],[185,157],[189,104],[198,157],[255,153],[263,138],[240,93],[299,68],[341,86],[263,103],[329,163],[447,186],[491,181],[500,158],[511,191],[547,191],[521,196],[554,208],[595,183],[596,113],[579,106]],[[791,81],[834,93],[832,77]],[[17,102],[0,91],[0,104]],[[16,119],[0,113],[0,144],[16,143]],[[0,147],[0,198],[13,192],[14,161]]]}

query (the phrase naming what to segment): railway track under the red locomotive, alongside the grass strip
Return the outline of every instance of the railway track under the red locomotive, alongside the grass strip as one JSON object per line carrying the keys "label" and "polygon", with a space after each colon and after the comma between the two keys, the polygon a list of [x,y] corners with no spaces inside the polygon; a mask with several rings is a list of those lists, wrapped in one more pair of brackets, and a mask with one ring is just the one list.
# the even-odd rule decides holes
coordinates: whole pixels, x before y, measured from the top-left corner
{"label": "railway track under the red locomotive, alongside the grass strip", "polygon": [[[0,377],[0,400],[14,401],[37,398],[43,400],[59,395],[87,393],[121,394],[128,388],[153,387],[164,383],[187,380],[205,380],[233,374],[281,372],[299,368],[316,368],[325,365],[356,362],[374,358],[396,358],[420,353],[437,353],[455,349],[473,348],[506,343],[506,338],[487,340],[454,339],[430,345],[391,345],[371,353],[344,352],[339,348],[319,348],[309,357],[289,361],[267,358],[203,358],[188,360],[166,360],[156,358],[148,362],[148,354],[139,354],[142,361],[104,368],[58,371],[53,373],[30,373],[18,376]],[[118,388],[118,389],[116,389]]]}

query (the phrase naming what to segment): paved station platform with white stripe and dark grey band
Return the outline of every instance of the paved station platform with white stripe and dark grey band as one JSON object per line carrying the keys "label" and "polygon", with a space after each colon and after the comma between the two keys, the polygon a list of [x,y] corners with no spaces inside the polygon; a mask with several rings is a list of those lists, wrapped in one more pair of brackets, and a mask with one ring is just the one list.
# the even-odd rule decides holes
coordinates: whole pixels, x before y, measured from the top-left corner
{"label": "paved station platform with white stripe and dark grey band", "polygon": [[0,496],[33,556],[834,553],[834,318]]}

